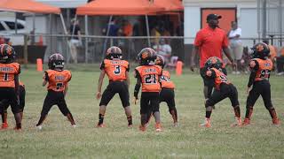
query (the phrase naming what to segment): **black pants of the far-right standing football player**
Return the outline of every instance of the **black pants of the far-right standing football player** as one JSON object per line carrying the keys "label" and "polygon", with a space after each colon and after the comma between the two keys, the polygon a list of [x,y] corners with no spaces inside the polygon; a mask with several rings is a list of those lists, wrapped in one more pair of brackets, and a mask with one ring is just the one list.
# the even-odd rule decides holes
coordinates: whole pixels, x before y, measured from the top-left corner
{"label": "black pants of the far-right standing football player", "polygon": [[259,95],[263,97],[264,106],[266,108],[272,107],[272,99],[271,99],[271,88],[268,80],[260,80],[256,81],[249,92],[247,99],[247,106],[253,107],[258,99]]}

